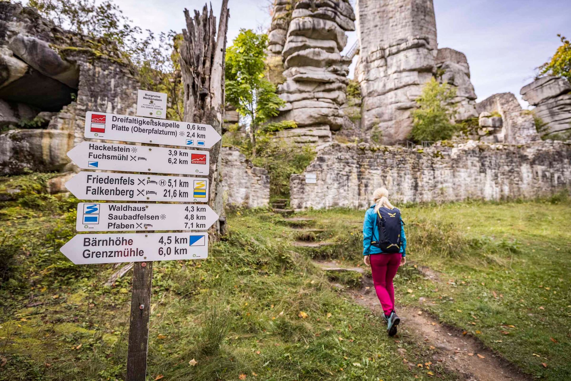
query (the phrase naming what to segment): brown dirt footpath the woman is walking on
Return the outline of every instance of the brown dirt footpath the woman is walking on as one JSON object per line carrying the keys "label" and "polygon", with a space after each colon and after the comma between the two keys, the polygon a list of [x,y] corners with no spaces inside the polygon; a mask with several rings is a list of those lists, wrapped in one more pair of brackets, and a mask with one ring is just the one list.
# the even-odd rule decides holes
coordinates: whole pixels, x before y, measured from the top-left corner
{"label": "brown dirt footpath the woman is walking on", "polygon": [[[343,267],[336,262],[314,262],[325,271],[359,271],[362,268]],[[433,275],[437,279],[437,275]],[[432,279],[432,276],[429,276]],[[363,288],[349,290],[348,294],[375,314],[382,314],[372,279],[364,277]],[[400,308],[399,335],[420,343],[432,350],[433,362],[439,362],[469,381],[529,381],[512,364],[485,348],[481,342],[459,330],[445,326],[420,308]],[[402,352],[403,358],[407,354]]]}

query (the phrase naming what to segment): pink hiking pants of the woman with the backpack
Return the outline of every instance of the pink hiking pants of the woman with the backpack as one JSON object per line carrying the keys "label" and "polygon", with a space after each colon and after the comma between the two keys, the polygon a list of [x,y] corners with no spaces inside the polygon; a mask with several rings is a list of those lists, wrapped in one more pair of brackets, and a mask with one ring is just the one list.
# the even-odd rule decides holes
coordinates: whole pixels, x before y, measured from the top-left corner
{"label": "pink hiking pants of the woman with the backpack", "polygon": [[371,271],[377,297],[385,315],[389,315],[395,309],[395,288],[392,280],[399,270],[401,253],[371,254],[369,258],[371,258]]}

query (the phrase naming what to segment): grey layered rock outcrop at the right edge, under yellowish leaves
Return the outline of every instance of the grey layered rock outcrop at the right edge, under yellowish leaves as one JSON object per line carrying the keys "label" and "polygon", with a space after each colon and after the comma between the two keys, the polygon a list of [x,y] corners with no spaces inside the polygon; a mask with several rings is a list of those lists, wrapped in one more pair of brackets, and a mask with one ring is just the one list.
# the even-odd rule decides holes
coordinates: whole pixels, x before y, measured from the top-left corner
{"label": "grey layered rock outcrop at the right edge, under yellowish leaves", "polygon": [[536,106],[533,113],[547,123],[548,134],[571,132],[571,84],[551,75],[536,79],[521,88],[524,101]]}

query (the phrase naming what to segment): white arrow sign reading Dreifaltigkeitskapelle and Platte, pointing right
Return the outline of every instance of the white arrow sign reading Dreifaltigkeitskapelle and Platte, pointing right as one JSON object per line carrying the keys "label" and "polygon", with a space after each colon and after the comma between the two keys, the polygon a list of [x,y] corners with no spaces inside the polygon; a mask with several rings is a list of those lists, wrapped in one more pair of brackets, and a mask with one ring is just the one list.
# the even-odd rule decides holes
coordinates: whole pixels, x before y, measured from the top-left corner
{"label": "white arrow sign reading Dreifaltigkeitskapelle and Platte, pointing right", "polygon": [[211,125],[94,111],[85,114],[85,137],[199,148],[211,148],[222,139]]}

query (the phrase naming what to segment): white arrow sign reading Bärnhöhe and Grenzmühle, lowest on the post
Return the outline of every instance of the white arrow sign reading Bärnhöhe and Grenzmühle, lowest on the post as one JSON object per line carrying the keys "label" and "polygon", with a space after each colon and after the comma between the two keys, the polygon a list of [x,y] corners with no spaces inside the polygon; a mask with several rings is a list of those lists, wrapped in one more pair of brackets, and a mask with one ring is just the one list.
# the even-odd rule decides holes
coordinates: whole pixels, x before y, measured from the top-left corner
{"label": "white arrow sign reading B\u00e4rnh\u00f6he and Grenzm\u00fchle, lowest on the post", "polygon": [[208,258],[208,234],[78,234],[59,249],[75,264]]}

